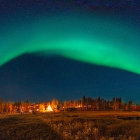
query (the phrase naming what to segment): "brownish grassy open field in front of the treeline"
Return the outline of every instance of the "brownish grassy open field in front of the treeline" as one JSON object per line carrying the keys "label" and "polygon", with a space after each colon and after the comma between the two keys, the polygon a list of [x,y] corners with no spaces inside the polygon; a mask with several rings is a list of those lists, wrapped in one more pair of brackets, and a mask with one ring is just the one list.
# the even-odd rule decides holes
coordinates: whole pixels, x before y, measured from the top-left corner
{"label": "brownish grassy open field in front of the treeline", "polygon": [[140,112],[0,115],[0,140],[140,140]]}

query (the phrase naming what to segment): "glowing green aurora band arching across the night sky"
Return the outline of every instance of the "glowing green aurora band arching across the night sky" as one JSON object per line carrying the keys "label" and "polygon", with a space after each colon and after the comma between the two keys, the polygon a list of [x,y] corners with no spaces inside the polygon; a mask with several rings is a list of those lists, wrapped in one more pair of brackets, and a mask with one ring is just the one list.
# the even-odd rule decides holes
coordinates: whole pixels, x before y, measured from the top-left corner
{"label": "glowing green aurora band arching across the night sky", "polygon": [[25,53],[39,53],[140,74],[140,32],[127,20],[61,15],[7,23],[1,30],[1,66]]}

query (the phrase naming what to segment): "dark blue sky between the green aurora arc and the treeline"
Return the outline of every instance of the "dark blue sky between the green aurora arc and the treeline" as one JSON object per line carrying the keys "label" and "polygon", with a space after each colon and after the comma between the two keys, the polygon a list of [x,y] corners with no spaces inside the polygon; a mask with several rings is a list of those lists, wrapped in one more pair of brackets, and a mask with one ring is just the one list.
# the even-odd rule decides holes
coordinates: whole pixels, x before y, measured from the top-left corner
{"label": "dark blue sky between the green aurora arc and the treeline", "polygon": [[0,93],[7,100],[123,97],[140,100],[140,75],[58,56],[24,55],[0,68]]}

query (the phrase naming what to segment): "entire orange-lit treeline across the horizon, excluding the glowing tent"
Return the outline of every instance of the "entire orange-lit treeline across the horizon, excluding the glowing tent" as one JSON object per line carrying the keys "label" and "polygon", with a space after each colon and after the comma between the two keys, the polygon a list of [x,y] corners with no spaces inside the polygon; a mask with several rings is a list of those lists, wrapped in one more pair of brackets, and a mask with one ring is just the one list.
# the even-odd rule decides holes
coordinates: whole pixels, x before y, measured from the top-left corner
{"label": "entire orange-lit treeline across the horizon, excluding the glowing tent", "polygon": [[80,100],[58,101],[53,99],[50,102],[31,103],[28,100],[23,102],[5,102],[0,100],[0,113],[20,112],[43,112],[48,105],[55,111],[140,111],[140,105],[134,105],[133,101],[124,102],[122,98],[105,100],[103,98],[91,98],[83,96]]}

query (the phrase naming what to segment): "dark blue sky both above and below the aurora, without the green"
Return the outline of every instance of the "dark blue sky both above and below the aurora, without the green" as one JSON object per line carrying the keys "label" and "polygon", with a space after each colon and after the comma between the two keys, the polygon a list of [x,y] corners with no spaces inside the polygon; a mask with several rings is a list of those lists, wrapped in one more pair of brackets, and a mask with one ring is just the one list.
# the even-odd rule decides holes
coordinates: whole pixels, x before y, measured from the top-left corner
{"label": "dark blue sky both above and below the aurora, without the green", "polygon": [[[123,15],[140,24],[139,0],[0,0],[0,26],[42,15],[85,10]],[[1,29],[0,28],[0,29]],[[1,47],[1,46],[0,46]],[[0,98],[78,99],[81,96],[140,101],[140,75],[58,56],[26,54],[0,67]]]}

